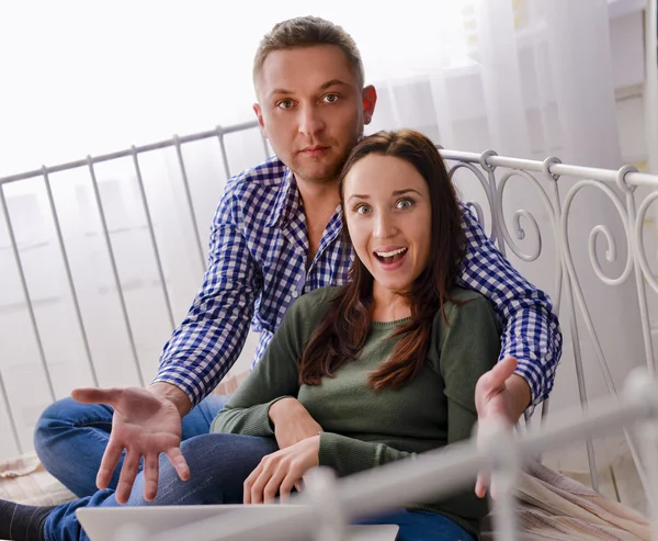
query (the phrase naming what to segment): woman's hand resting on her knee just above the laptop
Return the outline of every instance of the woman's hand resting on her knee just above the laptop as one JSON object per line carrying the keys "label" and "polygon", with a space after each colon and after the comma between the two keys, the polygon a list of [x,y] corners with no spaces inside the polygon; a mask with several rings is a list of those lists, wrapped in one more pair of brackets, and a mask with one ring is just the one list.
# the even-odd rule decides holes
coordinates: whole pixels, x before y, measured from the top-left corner
{"label": "woman's hand resting on her knee just above the laptop", "polygon": [[315,435],[263,457],[245,481],[245,504],[272,504],[277,493],[287,498],[304,474],[319,465],[319,453],[320,437]]}

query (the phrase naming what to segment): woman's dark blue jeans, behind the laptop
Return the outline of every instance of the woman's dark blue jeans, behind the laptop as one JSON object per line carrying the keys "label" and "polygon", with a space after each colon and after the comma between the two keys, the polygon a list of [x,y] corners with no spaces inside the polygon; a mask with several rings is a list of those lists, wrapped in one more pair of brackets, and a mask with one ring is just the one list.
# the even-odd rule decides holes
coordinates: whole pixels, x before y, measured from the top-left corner
{"label": "woman's dark blue jeans, behind the laptop", "polygon": [[[144,500],[144,476],[139,473],[126,505],[241,504],[242,483],[264,455],[277,449],[276,442],[269,438],[226,433],[191,438],[181,444],[190,464],[190,480],[182,482],[162,455],[156,499],[150,503]],[[216,457],[216,460],[208,460],[208,457]],[[45,538],[47,541],[88,540],[76,519],[76,509],[117,506],[112,489],[60,505],[46,519]],[[400,528],[398,541],[473,541],[452,520],[432,512],[400,509],[359,523],[396,523]]]}

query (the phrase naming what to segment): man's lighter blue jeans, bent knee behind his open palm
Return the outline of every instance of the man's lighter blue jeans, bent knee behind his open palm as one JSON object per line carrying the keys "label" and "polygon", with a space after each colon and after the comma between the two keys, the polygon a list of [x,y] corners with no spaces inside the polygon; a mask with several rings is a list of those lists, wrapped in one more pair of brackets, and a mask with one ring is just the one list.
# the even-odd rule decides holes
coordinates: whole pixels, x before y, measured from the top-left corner
{"label": "man's lighter blue jeans, bent knee behind his open palm", "polygon": [[[183,441],[208,433],[228,396],[209,395],[183,418]],[[34,431],[34,449],[45,469],[76,496],[97,493],[95,477],[110,439],[114,409],[64,398],[48,406]],[[123,457],[110,488],[116,488]]]}

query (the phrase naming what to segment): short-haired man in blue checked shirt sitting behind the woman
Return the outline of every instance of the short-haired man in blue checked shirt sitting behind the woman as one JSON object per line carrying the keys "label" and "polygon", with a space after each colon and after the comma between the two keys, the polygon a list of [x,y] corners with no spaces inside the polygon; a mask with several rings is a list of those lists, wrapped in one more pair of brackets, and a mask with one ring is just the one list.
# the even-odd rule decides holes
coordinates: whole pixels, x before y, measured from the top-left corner
{"label": "short-haired man in blue checked shirt sitting behind the woman", "polygon": [[[253,110],[276,157],[228,181],[202,289],[154,382],[148,390],[75,391],[86,404],[60,401],[39,420],[39,458],[78,496],[95,491],[98,470],[98,486],[116,486],[125,503],[143,466],[145,497],[152,499],[161,452],[188,478],[181,437],[208,431],[222,402],[203,399],[238,358],[249,323],[260,331],[258,359],[295,298],[348,278],[352,252],[341,236],[336,179],[377,99],[364,87],[359,50],[332,23],[285,21],[261,42],[253,82]],[[561,335],[546,295],[512,269],[466,208],[463,225],[468,246],[460,285],[483,293],[504,328],[502,362],[477,386],[479,420],[502,416],[511,426],[549,393]],[[280,448],[321,430],[296,401],[280,401],[270,417]],[[484,491],[480,480],[476,492]]]}

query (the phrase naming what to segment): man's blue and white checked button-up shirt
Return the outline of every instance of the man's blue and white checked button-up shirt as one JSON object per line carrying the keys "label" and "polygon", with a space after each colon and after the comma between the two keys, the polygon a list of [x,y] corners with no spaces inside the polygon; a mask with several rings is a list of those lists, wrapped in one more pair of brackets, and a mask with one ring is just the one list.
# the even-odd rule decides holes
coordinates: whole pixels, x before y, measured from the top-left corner
{"label": "man's blue and white checked button-up shirt", "polygon": [[[485,295],[503,326],[500,359],[519,360],[533,405],[544,399],[561,353],[551,300],[500,255],[463,208],[467,253],[458,285]],[[154,381],[182,388],[195,406],[238,359],[249,324],[260,333],[260,359],[288,306],[299,295],[348,279],[352,248],[331,216],[307,268],[306,218],[295,179],[276,159],[228,180],[213,219],[208,270],[188,316],[164,346]]]}

